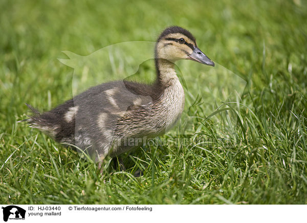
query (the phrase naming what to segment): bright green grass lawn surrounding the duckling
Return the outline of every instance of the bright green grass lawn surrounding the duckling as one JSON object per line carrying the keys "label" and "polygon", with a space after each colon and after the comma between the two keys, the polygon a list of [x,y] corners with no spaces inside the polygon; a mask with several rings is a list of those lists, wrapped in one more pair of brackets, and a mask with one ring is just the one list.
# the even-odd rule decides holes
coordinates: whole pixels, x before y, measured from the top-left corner
{"label": "bright green grass lawn surrounding the duckling", "polygon": [[[0,8],[0,204],[307,203],[305,1],[1,1]],[[96,164],[16,123],[25,102],[47,110],[72,97],[73,69],[57,60],[61,51],[155,41],[169,25],[191,30],[210,58],[247,82],[233,130],[203,98],[189,110],[193,142],[144,146],[123,156],[126,172],[106,163],[101,177]],[[196,78],[198,66],[189,65]],[[134,177],[138,169],[143,175]]]}

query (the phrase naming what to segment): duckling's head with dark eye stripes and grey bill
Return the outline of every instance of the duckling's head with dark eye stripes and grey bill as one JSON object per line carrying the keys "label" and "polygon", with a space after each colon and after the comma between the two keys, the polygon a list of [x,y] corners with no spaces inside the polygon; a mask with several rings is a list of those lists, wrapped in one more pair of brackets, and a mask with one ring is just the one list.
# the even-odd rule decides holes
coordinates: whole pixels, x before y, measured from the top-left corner
{"label": "duckling's head with dark eye stripes and grey bill", "polygon": [[188,59],[214,66],[213,61],[198,48],[193,35],[178,26],[168,27],[161,33],[156,44],[156,58],[171,62]]}

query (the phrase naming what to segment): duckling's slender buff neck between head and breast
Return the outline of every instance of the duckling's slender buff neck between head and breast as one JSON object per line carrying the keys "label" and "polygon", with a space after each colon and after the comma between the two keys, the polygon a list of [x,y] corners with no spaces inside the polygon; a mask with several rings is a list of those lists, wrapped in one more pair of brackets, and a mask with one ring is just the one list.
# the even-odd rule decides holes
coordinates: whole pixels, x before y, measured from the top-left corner
{"label": "duckling's slender buff neck between head and breast", "polygon": [[169,60],[156,58],[156,69],[158,75],[158,82],[167,87],[171,84],[172,80],[178,79],[175,64]]}

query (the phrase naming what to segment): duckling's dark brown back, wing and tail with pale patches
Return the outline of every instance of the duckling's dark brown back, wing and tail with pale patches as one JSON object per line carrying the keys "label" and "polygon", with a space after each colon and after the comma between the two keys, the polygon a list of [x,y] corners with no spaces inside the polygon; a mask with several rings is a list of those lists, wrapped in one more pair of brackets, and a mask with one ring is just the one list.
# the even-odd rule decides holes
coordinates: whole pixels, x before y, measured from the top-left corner
{"label": "duckling's dark brown back, wing and tail with pale patches", "polygon": [[106,154],[119,135],[117,120],[152,104],[152,97],[142,87],[124,81],[103,83],[43,114],[30,107],[33,115],[28,122],[58,142]]}

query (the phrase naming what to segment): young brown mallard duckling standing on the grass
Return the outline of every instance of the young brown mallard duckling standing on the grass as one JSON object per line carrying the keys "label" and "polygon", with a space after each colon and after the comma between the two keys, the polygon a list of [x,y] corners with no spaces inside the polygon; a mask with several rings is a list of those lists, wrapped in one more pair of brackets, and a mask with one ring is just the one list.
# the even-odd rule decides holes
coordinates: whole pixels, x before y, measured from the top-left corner
{"label": "young brown mallard duckling standing on the grass", "polygon": [[[155,46],[157,78],[152,84],[102,83],[43,114],[27,104],[33,113],[27,121],[56,141],[86,151],[97,162],[106,155],[115,157],[140,146],[144,138],[163,135],[180,118],[185,95],[174,69],[180,59],[214,66],[189,31],[168,27]],[[134,144],[127,144],[127,139]]]}

